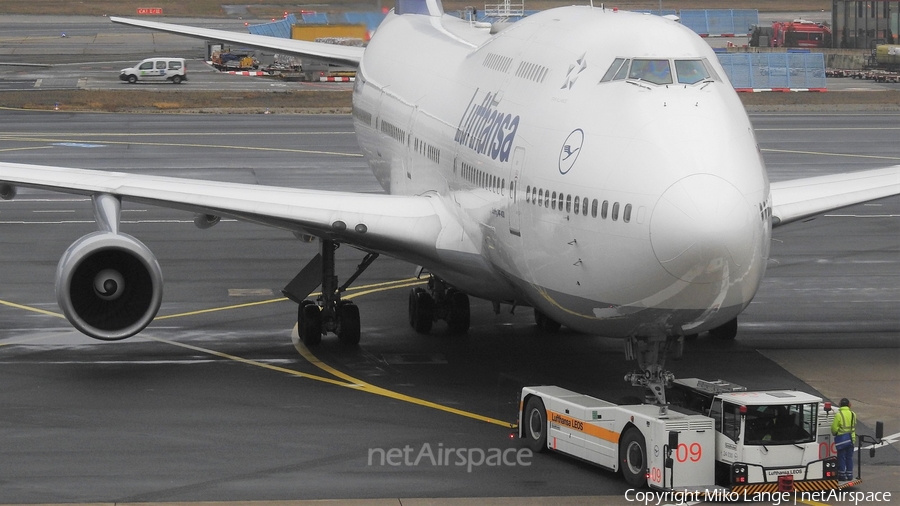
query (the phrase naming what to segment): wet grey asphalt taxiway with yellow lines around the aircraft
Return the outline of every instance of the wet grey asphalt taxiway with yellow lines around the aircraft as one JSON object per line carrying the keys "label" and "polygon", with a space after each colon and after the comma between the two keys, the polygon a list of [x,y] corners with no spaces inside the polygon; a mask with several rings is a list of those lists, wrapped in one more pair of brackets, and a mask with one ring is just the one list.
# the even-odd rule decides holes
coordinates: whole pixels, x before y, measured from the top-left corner
{"label": "wet grey asphalt taxiway with yellow lines around the aircraft", "polygon": [[[3,161],[381,191],[349,116],[0,114]],[[896,114],[752,119],[773,181],[900,163]],[[279,290],[314,244],[239,222],[198,230],[146,206],[126,205],[122,219],[159,258],[164,302],[144,332],[104,343],[69,327],[53,288],[62,252],[95,230],[90,203],[24,189],[0,201],[0,503],[627,504],[621,478],[559,455],[471,469],[379,460],[406,448],[518,452],[509,436],[524,385],[635,394],[621,342],[542,335],[530,310],[495,315],[477,300],[467,337],[441,325],[417,335],[406,321],[414,266],[382,258],[355,283],[361,345],[332,337],[301,354],[296,305]],[[361,258],[340,248],[339,274]],[[701,336],[670,368],[848,396],[866,426],[898,432],[900,198],[778,229],[771,258],[737,339]],[[894,447],[865,465],[875,479],[862,490],[900,490]]]}

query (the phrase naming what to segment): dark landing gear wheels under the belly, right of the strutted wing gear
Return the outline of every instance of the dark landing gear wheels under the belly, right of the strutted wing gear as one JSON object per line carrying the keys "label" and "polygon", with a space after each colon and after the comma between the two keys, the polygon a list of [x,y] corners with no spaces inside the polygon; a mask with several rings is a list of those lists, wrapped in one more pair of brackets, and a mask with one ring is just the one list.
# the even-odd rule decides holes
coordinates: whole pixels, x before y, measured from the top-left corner
{"label": "dark landing gear wheels under the belly, right of the strutted wing gear", "polygon": [[469,296],[430,275],[427,288],[409,292],[409,326],[419,334],[431,332],[434,322],[444,320],[451,334],[469,331]]}

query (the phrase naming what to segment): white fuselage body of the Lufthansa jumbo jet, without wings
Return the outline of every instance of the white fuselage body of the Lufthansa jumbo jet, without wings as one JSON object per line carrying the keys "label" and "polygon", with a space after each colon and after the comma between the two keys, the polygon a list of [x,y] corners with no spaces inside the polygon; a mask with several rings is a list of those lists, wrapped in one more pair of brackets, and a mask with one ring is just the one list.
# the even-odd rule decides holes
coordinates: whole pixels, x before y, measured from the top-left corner
{"label": "white fuselage body of the Lufthansa jumbo jet, without wings", "polygon": [[[713,75],[601,82],[617,58],[702,60]],[[762,157],[724,75],[701,38],[656,16],[565,7],[490,35],[391,14],[354,118],[387,191],[437,195],[458,220],[465,241],[445,238],[431,272],[576,330],[695,334],[750,303],[771,233]]]}

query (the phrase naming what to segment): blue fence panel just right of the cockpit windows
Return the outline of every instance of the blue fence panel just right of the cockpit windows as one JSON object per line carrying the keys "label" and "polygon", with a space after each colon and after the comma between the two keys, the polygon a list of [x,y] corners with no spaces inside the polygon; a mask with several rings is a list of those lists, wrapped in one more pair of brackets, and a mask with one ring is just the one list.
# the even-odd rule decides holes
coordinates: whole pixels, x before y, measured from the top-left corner
{"label": "blue fence panel just right of the cockpit windows", "polygon": [[822,53],[727,53],[719,63],[737,90],[825,90]]}

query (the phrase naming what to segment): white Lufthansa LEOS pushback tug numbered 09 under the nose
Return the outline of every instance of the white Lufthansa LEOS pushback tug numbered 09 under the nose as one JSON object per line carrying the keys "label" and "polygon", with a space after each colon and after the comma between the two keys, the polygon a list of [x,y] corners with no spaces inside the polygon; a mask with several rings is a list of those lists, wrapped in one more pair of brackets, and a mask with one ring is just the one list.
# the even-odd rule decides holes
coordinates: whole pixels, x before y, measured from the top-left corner
{"label": "white Lufthansa LEOS pushback tug numbered 09 under the nose", "polygon": [[670,398],[670,408],[616,405],[560,387],[526,387],[519,437],[534,451],[621,471],[634,487],[718,486],[743,495],[860,483],[839,482],[837,459],[820,453],[821,436],[830,442],[831,434],[830,406],[819,397],[688,378],[675,381]]}

